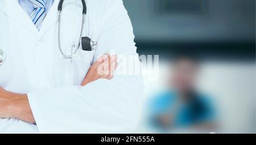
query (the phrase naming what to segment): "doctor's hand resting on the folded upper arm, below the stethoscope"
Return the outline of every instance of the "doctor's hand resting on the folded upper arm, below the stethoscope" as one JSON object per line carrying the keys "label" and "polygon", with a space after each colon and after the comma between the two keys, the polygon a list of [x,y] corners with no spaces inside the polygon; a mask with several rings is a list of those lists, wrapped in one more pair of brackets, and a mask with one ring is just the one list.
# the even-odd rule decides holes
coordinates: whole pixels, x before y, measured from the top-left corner
{"label": "doctor's hand resting on the folded upper arm, below the stethoscope", "polygon": [[117,56],[110,57],[109,54],[104,54],[90,67],[81,86],[85,86],[97,79],[112,79],[117,66]]}

